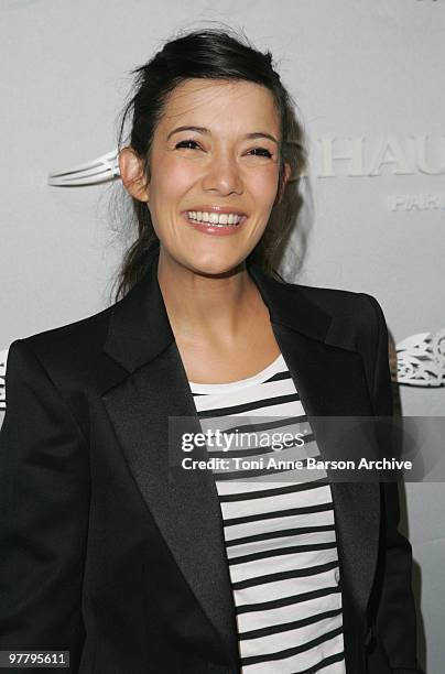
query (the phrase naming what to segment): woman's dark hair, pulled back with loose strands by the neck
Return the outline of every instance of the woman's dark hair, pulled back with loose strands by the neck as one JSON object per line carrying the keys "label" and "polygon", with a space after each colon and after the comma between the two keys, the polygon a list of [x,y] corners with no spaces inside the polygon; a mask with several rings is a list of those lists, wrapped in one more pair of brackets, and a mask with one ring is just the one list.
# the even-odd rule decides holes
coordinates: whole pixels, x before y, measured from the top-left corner
{"label": "woman's dark hair, pulled back with loose strands by the neck", "polygon": [[[143,160],[150,181],[150,156],[154,130],[162,118],[169,94],[189,78],[252,81],[273,95],[280,120],[280,177],[275,204],[261,240],[246,260],[265,273],[281,279],[275,271],[301,205],[295,176],[306,166],[303,131],[295,119],[295,104],[273,68],[272,54],[254,48],[247,37],[230,28],[196,30],[166,42],[145,65],[131,70],[135,75],[134,95],[122,111],[118,133],[118,151],[129,144]],[[131,131],[123,140],[123,129],[131,118]],[[284,162],[292,168],[293,180],[282,189]],[[279,197],[281,196],[281,200]],[[148,253],[159,246],[146,204],[132,200],[132,220],[138,236],[127,250],[117,278],[116,298],[120,298],[140,280]]]}

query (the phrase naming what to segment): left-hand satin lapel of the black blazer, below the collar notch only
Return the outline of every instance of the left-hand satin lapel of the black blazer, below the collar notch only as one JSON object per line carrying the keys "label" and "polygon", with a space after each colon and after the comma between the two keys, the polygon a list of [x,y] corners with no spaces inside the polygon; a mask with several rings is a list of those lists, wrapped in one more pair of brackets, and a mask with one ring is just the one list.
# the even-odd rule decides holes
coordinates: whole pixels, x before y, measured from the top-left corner
{"label": "left-hand satin lapel of the black blazer, below the collar notch only", "polygon": [[235,608],[213,476],[171,470],[178,447],[169,442],[169,417],[183,417],[184,432],[200,432],[175,344],[102,399],[151,514],[235,662]]}

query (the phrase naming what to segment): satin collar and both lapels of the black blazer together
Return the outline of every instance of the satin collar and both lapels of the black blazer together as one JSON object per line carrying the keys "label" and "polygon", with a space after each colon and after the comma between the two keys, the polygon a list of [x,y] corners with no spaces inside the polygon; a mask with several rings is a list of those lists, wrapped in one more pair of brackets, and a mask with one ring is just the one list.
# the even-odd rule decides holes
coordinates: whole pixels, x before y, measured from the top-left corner
{"label": "satin collar and both lapels of the black blazer together", "polygon": [[[169,417],[183,417],[192,432],[199,432],[200,425],[158,283],[158,257],[155,249],[142,280],[111,313],[105,351],[123,373],[102,400],[150,512],[237,666],[235,607],[213,476],[170,470],[177,455],[169,447]],[[329,443],[317,417],[371,414],[360,356],[350,345],[337,346],[338,330],[336,344],[328,344],[332,317],[303,294],[256,267],[249,272],[269,307],[322,457],[327,458]],[[362,615],[378,548],[379,489],[333,482],[332,491],[341,577]]]}

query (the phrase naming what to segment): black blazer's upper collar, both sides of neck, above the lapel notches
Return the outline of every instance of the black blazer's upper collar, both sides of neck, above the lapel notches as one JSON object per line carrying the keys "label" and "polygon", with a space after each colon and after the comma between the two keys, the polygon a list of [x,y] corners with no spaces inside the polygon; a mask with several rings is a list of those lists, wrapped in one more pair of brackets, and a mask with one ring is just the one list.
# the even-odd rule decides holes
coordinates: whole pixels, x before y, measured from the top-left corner
{"label": "black blazer's upper collar, both sides of neck, above the lapel notches", "polygon": [[[175,339],[158,281],[158,262],[159,248],[151,251],[142,279],[116,304],[111,314],[105,351],[129,372],[155,358]],[[248,269],[269,308],[272,324],[325,340],[332,316],[258,265]]]}

